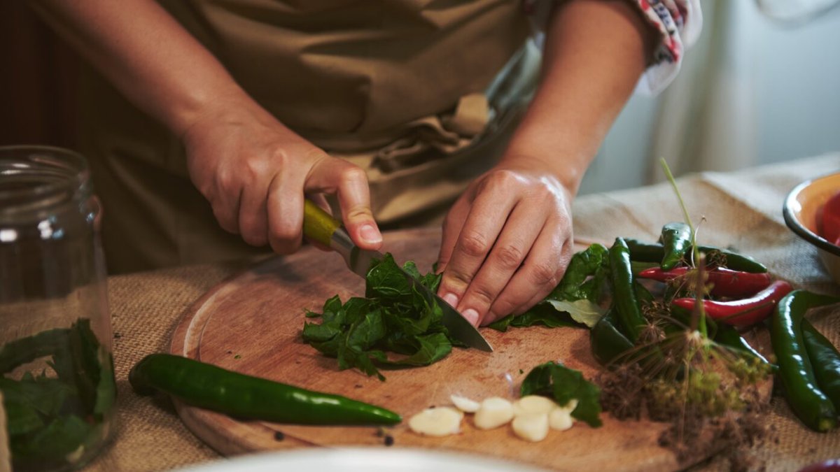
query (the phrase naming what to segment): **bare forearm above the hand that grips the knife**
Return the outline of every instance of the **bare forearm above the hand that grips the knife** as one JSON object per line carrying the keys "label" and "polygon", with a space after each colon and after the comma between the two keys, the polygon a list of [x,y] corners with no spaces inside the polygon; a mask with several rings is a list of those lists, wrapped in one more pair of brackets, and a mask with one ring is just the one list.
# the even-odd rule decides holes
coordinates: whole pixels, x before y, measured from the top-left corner
{"label": "bare forearm above the hand that grips the knife", "polygon": [[223,66],[152,0],[31,3],[139,108],[186,128],[213,103],[249,99]]}

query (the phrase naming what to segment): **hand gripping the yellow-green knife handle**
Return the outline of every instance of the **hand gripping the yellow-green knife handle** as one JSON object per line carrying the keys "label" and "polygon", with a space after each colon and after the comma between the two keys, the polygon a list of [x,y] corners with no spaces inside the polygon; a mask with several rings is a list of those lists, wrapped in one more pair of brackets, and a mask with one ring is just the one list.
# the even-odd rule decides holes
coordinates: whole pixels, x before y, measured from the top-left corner
{"label": "hand gripping the yellow-green knife handle", "polygon": [[[354,243],[379,249],[365,170],[327,155],[253,101],[215,110],[193,120],[182,137],[192,183],[222,228],[290,254],[302,244],[304,194],[323,192],[338,196]],[[312,197],[325,207],[323,195]]]}

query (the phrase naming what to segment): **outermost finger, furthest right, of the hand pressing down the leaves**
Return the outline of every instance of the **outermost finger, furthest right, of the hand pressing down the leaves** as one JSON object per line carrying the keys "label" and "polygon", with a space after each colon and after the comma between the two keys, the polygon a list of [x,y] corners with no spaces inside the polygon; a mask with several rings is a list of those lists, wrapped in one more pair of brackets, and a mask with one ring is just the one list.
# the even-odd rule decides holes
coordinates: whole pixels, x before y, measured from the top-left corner
{"label": "outermost finger, furthest right, of the hand pressing down the leaves", "polygon": [[493,323],[511,313],[521,314],[549,295],[569,265],[570,241],[570,231],[559,231],[557,224],[546,224],[522,266],[481,320],[481,325]]}

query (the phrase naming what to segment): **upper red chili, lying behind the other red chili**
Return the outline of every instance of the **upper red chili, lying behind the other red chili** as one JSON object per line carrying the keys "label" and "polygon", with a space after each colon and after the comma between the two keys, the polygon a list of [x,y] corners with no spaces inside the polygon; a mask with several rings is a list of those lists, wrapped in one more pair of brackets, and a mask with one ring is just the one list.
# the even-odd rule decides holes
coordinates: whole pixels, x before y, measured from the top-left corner
{"label": "upper red chili, lying behind the other red chili", "polygon": [[[689,272],[690,267],[676,267],[671,270],[662,270],[659,267],[642,270],[638,276],[643,279],[668,282],[678,277],[683,277]],[[725,267],[715,267],[706,270],[708,281],[711,283],[709,293],[714,296],[748,296],[758,293],[767,288],[772,280],[767,272],[753,273],[731,270]]]}

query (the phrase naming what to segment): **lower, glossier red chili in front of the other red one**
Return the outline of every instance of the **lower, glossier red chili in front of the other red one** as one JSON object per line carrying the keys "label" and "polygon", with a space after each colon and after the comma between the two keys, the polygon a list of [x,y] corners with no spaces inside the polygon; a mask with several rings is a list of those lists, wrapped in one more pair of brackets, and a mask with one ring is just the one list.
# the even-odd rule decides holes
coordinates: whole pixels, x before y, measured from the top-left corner
{"label": "lower, glossier red chili in front of the other red one", "polygon": [[[748,326],[753,323],[759,323],[759,321],[768,317],[776,306],[776,303],[791,290],[793,290],[793,287],[789,283],[785,281],[774,281],[763,291],[759,291],[759,293],[756,293],[755,296],[750,298],[732,300],[731,302],[704,300],[703,309],[706,311],[706,315],[715,321],[734,326]],[[677,307],[691,310],[694,308],[695,299],[677,298],[671,303]]]}

